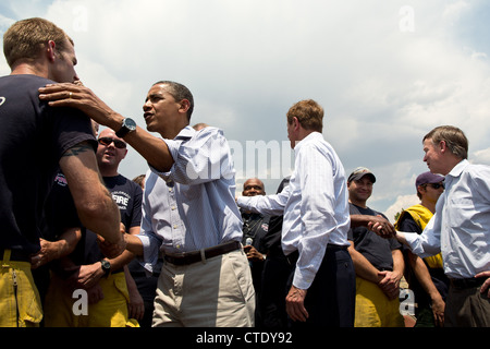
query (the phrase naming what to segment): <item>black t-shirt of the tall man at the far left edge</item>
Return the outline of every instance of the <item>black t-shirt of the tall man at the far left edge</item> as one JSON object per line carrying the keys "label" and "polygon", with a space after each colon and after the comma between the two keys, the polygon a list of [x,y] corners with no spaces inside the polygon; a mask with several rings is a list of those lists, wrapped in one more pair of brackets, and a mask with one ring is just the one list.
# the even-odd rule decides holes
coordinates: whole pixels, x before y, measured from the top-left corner
{"label": "black t-shirt of the tall man at the far left edge", "polygon": [[71,108],[51,108],[38,88],[53,83],[36,75],[0,77],[0,249],[39,250],[44,204],[63,153],[97,143],[89,119]]}

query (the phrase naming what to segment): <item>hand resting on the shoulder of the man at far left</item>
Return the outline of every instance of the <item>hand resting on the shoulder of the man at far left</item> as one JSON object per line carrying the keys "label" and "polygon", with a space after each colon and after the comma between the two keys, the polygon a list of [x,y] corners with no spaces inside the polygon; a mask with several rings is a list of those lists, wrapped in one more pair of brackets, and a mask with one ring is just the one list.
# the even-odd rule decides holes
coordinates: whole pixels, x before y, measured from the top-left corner
{"label": "hand resting on the shoulder of the man at far left", "polygon": [[82,110],[99,124],[111,127],[111,116],[115,112],[109,108],[91,89],[82,84],[50,84],[39,88],[39,99],[49,101],[51,107],[70,107]]}

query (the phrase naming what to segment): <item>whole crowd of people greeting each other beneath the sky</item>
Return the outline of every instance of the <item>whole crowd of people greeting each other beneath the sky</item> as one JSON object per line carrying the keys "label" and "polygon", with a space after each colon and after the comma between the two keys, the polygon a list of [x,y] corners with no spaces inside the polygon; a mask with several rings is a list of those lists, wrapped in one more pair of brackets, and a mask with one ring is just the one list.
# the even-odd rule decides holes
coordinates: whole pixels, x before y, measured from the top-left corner
{"label": "whole crowd of people greeting each other beneath the sky", "polygon": [[[403,327],[405,279],[416,326],[490,326],[490,167],[468,163],[460,129],[424,137],[420,204],[394,226],[311,99],[286,113],[291,177],[235,197],[228,141],[191,127],[183,84],[149,87],[144,130],[79,82],[53,23],[19,21],[3,46],[0,326]],[[127,144],[149,168],[133,180]]]}

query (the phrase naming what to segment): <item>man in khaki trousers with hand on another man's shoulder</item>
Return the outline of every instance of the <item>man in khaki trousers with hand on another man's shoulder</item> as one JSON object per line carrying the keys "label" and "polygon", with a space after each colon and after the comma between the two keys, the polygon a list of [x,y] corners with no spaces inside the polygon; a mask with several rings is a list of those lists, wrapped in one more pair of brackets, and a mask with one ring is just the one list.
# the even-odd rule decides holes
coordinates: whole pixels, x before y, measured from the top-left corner
{"label": "man in khaki trousers with hand on another man's shoulder", "polygon": [[125,234],[127,250],[148,272],[163,255],[152,326],[249,327],[255,292],[242,249],[235,170],[223,132],[189,127],[194,98],[174,82],[151,86],[143,106],[147,130],[110,109],[90,89],[48,86],[52,105],[77,107],[117,131],[150,167],[142,229]]}

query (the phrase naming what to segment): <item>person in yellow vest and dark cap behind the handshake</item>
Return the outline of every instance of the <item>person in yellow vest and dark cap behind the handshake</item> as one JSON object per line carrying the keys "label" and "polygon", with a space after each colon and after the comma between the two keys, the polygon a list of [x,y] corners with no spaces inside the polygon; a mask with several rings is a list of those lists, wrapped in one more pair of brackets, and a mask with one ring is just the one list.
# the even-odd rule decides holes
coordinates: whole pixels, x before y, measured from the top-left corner
{"label": "person in yellow vest and dark cap behind the handshake", "polygon": [[[419,174],[415,181],[420,204],[408,207],[400,214],[395,228],[402,231],[421,233],[436,212],[436,203],[444,191],[444,177],[430,171]],[[442,268],[441,253],[420,258],[412,251],[405,252],[408,269],[406,277],[414,291],[417,322],[416,327],[434,327],[444,324],[445,298],[449,279]]]}

